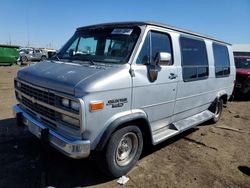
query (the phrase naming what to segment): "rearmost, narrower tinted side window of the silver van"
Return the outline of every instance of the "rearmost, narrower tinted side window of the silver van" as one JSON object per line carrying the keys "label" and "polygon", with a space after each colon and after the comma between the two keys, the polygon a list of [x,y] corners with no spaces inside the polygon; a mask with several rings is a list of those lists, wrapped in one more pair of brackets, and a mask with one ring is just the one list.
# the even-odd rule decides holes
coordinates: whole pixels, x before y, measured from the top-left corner
{"label": "rearmost, narrower tinted side window of the silver van", "polygon": [[229,76],[230,61],[228,49],[224,45],[213,43],[215,77]]}

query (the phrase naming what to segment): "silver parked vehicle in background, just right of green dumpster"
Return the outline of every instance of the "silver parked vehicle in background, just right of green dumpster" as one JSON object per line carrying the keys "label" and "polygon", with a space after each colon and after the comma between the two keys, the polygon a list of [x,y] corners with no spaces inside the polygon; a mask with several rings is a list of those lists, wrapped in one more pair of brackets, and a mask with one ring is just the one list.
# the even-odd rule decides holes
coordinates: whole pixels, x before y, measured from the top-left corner
{"label": "silver parked vehicle in background, just right of green dumpster", "polygon": [[41,61],[48,58],[48,53],[36,48],[21,48],[19,51],[21,63],[28,61]]}

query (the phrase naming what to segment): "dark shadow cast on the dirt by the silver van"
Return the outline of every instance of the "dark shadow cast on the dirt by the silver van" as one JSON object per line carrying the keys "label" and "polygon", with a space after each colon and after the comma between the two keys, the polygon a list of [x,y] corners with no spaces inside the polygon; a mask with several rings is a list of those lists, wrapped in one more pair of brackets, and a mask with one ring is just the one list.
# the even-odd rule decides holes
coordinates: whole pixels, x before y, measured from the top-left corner
{"label": "dark shadow cast on the dirt by the silver van", "polygon": [[[77,187],[112,181],[93,158],[74,160],[40,141],[15,119],[0,120],[0,187]],[[4,128],[3,128],[4,127]],[[8,129],[8,131],[6,131]],[[198,130],[191,129],[157,146],[146,146],[142,158]]]}

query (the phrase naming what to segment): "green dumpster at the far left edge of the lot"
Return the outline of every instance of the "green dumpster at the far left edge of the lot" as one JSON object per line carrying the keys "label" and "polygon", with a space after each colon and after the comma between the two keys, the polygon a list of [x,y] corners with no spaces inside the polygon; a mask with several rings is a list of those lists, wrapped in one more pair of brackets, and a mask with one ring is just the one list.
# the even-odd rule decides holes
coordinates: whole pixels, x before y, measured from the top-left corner
{"label": "green dumpster at the far left edge of the lot", "polygon": [[19,46],[0,44],[0,65],[12,65],[19,58]]}

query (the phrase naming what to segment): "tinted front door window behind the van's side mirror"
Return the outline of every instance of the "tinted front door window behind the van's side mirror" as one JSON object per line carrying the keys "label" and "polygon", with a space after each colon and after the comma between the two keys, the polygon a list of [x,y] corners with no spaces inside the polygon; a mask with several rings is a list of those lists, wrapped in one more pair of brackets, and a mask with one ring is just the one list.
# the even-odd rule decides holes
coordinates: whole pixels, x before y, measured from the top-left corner
{"label": "tinted front door window behind the van's side mirror", "polygon": [[[158,52],[172,53],[170,38],[167,34],[148,32],[136,63],[154,64]],[[172,64],[172,60],[169,64]],[[161,63],[160,65],[164,64]]]}

